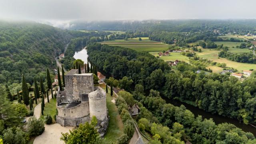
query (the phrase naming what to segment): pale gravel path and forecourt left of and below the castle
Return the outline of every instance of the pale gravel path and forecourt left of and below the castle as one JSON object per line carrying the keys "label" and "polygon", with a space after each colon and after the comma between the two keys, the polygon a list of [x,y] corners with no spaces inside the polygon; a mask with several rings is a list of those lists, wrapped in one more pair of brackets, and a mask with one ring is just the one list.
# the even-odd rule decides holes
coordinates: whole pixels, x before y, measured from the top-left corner
{"label": "pale gravel path and forecourt left of and below the castle", "polygon": [[[52,99],[52,94],[49,95],[49,100],[50,99]],[[44,99],[44,103],[47,103],[47,98]],[[41,103],[34,108],[34,116],[40,118]],[[50,125],[44,124],[44,127],[44,132],[35,138],[33,144],[64,144],[64,142],[60,140],[60,137],[62,136],[61,132],[66,133],[74,128],[69,126],[63,127],[58,123]]]}

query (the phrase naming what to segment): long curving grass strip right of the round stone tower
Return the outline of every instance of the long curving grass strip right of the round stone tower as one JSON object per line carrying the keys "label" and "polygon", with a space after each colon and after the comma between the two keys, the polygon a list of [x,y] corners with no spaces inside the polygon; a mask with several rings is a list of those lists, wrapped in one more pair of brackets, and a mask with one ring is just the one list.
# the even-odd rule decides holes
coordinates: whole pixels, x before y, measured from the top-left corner
{"label": "long curving grass strip right of the round stone tower", "polygon": [[[106,90],[106,85],[98,84],[96,86],[102,87]],[[110,120],[108,123],[108,130],[104,138],[108,143],[114,142],[117,143],[118,138],[123,134],[123,123],[121,120],[120,115],[118,114],[116,105],[111,102],[112,96],[110,96],[110,89],[108,89],[107,93],[107,108],[108,108],[108,115],[110,116]]]}

